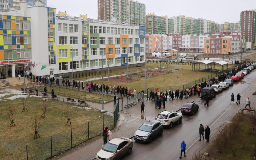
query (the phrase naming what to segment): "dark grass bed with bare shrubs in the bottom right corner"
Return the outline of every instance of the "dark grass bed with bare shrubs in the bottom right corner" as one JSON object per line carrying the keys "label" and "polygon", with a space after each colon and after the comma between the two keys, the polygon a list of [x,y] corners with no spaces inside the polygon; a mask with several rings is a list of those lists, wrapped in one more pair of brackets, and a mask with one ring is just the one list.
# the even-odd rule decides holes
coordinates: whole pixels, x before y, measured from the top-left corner
{"label": "dark grass bed with bare shrubs in the bottom right corner", "polygon": [[[252,132],[249,134],[250,129],[249,118],[243,116],[241,123],[239,124],[239,130],[235,132],[234,137],[229,140],[226,148],[223,149],[222,153],[219,154],[214,146],[210,146],[208,153],[211,158],[223,159],[223,160],[250,160],[251,155],[254,154],[255,143],[256,143],[256,133]],[[243,149],[242,142],[245,142],[245,147]],[[231,151],[231,146],[235,150],[235,156],[233,156]]]}

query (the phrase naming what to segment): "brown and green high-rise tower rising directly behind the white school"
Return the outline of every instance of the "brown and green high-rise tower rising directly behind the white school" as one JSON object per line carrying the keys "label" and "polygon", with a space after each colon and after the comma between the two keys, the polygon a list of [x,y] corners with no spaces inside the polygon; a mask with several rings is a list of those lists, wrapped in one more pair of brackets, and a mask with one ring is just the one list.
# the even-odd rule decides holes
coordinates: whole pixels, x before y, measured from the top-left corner
{"label": "brown and green high-rise tower rising directly behind the white school", "polygon": [[[145,4],[133,0],[98,0],[98,19],[117,24],[146,25]],[[114,19],[115,18],[115,19]]]}

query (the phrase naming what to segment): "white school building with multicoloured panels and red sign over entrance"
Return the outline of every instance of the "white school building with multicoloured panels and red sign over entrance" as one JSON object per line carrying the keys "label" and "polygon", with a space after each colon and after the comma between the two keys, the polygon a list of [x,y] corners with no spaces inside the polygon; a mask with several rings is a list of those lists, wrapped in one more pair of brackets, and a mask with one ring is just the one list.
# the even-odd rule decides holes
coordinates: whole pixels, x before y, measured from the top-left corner
{"label": "white school building with multicoloured panels and red sign over entrance", "polygon": [[[145,63],[145,27],[63,18],[41,3],[0,12],[0,69],[59,76]],[[17,16],[10,16],[17,12]],[[1,40],[2,39],[2,40]],[[1,47],[2,46],[2,47]],[[23,62],[25,61],[25,62]],[[31,64],[35,63],[35,68]]]}

